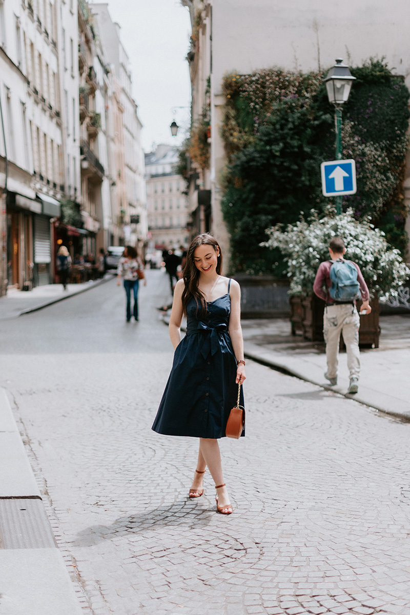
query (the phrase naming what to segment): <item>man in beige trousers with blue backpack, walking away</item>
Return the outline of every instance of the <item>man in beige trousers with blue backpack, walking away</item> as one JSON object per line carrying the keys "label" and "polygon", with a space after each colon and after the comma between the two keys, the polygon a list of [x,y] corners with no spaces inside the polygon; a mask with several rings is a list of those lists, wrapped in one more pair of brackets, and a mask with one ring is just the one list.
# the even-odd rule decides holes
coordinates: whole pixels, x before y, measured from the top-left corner
{"label": "man in beige trousers with blue backpack, walking away", "polygon": [[341,237],[333,237],[329,244],[331,260],[320,263],[313,292],[326,301],[323,314],[323,334],[326,343],[328,371],[325,378],[331,386],[337,384],[337,359],[341,333],[347,352],[350,383],[348,393],[357,393],[360,374],[359,327],[356,300],[362,299],[361,314],[370,314],[369,289],[360,267],[344,260],[346,248]]}

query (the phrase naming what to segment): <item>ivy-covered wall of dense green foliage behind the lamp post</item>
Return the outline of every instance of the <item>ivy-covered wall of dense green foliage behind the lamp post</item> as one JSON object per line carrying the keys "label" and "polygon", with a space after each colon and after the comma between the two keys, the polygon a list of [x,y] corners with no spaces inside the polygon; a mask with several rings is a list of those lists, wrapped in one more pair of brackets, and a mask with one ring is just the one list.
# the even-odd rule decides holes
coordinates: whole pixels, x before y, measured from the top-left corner
{"label": "ivy-covered wall of dense green foliage behind the lamp post", "polygon": [[[342,157],[357,163],[357,194],[343,199],[357,220],[370,215],[401,251],[408,237],[401,191],[408,147],[409,91],[380,60],[351,69],[357,77],[343,108]],[[223,213],[231,233],[232,266],[281,275],[281,253],[259,244],[265,229],[293,223],[301,212],[324,212],[320,163],[334,159],[334,111],[325,73],[278,68],[224,78],[221,128],[227,154]]]}

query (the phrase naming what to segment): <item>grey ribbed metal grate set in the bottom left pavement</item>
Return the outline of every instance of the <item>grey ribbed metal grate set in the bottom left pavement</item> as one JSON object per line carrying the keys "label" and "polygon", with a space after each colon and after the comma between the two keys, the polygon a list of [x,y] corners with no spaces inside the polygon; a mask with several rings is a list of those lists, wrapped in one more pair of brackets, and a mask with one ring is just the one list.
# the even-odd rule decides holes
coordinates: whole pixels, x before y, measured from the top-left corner
{"label": "grey ribbed metal grate set in the bottom left pavement", "polygon": [[39,498],[0,498],[0,549],[57,547]]}

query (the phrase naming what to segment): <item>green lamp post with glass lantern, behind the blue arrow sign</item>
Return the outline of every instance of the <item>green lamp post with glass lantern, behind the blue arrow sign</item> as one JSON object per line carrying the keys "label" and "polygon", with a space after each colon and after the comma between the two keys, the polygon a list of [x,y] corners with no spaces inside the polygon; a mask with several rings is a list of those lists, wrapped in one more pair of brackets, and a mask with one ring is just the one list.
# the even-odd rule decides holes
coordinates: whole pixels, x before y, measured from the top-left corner
{"label": "green lamp post with glass lantern, behind the blue arrow sign", "polygon": [[[342,58],[336,58],[336,64],[329,70],[326,79],[329,103],[334,105],[334,126],[336,130],[336,160],[342,159],[342,105],[349,100],[350,89],[356,77],[350,73],[349,66],[343,64]],[[342,212],[342,197],[336,197],[336,213]]]}

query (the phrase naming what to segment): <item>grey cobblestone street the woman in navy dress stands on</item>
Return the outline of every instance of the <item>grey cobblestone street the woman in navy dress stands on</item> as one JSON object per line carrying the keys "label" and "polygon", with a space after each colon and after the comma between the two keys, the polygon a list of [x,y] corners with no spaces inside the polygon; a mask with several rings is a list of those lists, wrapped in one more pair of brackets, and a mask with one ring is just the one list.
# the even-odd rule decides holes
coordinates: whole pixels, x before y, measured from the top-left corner
{"label": "grey cobblestone street the woman in navy dress stands on", "polygon": [[148,272],[140,322],[108,282],[0,323],[0,384],[92,615],[409,613],[410,425],[248,362],[234,514],[190,501],[197,442],[154,434],[171,365]]}

